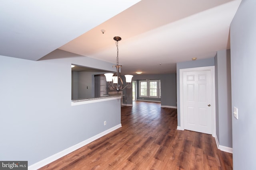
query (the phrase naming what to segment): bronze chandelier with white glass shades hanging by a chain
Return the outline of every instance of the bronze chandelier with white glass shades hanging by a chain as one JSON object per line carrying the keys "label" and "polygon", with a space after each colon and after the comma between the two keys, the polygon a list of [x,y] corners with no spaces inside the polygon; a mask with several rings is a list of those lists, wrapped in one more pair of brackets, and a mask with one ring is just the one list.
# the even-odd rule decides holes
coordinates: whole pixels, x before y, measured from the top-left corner
{"label": "bronze chandelier with white glass shades hanging by a chain", "polygon": [[[123,80],[121,78],[121,74],[119,72],[119,68],[122,67],[122,65],[119,65],[118,63],[118,41],[121,40],[121,37],[114,37],[114,40],[116,41],[116,47],[117,47],[117,56],[116,56],[116,65],[113,66],[116,67],[116,74],[114,73],[106,73],[104,74],[106,76],[106,81],[108,82],[108,88],[113,88],[118,93],[120,90],[123,90],[124,88],[131,88],[130,83],[132,82],[133,75],[124,75],[126,78],[127,85],[124,86]],[[112,82],[112,84],[111,84]]]}

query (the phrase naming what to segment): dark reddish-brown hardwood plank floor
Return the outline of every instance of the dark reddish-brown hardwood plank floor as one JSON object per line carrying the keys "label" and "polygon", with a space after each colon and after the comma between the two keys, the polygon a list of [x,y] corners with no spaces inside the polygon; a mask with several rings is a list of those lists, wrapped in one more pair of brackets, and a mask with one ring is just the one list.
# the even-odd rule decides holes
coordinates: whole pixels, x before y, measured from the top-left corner
{"label": "dark reddish-brown hardwood plank floor", "polygon": [[177,109],[134,102],[122,127],[40,170],[232,170],[212,135],[177,129]]}

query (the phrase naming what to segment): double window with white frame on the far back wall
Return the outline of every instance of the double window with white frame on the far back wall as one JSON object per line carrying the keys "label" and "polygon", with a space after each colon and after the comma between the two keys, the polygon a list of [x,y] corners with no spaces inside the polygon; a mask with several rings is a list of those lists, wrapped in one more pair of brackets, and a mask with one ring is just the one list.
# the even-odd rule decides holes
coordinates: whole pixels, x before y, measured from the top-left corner
{"label": "double window with white frame on the far back wall", "polygon": [[161,98],[161,80],[141,80],[140,97]]}

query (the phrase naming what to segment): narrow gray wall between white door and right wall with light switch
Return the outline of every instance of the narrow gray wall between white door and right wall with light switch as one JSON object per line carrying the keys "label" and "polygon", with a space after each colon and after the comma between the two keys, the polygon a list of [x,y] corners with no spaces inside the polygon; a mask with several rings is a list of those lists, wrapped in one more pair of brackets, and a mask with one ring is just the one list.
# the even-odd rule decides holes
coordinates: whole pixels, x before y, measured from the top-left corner
{"label": "narrow gray wall between white door and right wall with light switch", "polygon": [[232,148],[230,50],[218,51],[214,60],[216,135],[220,145]]}

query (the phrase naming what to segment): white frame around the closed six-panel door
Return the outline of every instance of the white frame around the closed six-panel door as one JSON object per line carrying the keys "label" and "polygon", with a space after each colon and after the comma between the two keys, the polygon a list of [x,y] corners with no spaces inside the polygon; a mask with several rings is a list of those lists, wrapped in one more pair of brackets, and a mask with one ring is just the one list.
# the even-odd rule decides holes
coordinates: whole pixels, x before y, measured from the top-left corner
{"label": "white frame around the closed six-panel door", "polygon": [[212,136],[216,137],[216,105],[215,105],[215,66],[205,66],[196,68],[183,68],[180,69],[180,130],[185,130],[184,128],[184,104],[183,104],[183,72],[191,71],[206,71],[211,72],[211,86],[212,86]]}

